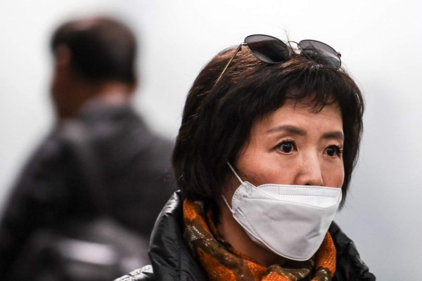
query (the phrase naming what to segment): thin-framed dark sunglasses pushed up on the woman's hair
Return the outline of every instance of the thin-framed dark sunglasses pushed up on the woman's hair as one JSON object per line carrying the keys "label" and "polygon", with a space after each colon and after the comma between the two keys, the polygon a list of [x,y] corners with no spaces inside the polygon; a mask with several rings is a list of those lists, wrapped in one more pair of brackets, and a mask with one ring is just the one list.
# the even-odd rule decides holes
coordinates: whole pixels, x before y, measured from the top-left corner
{"label": "thin-framed dark sunglasses pushed up on the woman's hair", "polygon": [[[302,55],[306,55],[309,59],[314,60],[315,63],[331,67],[335,70],[340,69],[341,54],[331,48],[331,46],[316,40],[302,40],[299,43],[288,41],[288,44],[292,43],[297,44],[300,53],[302,53]],[[224,72],[226,72],[227,67],[229,67],[231,61],[236,56],[236,53],[241,50],[242,46],[247,46],[250,53],[255,55],[255,58],[258,60],[271,65],[284,63],[290,58],[288,45],[280,39],[263,34],[249,35],[245,38],[243,43],[238,46],[234,55],[224,67],[222,73],[219,74],[214,86],[223,76]]]}

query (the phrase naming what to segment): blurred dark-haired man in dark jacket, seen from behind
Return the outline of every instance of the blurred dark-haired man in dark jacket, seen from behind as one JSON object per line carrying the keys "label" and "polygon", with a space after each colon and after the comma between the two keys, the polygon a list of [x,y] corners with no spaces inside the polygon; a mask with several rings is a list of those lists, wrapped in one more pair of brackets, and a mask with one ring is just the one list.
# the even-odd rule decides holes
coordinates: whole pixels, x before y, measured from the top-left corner
{"label": "blurred dark-haired man in dark jacket, seen from behind", "polygon": [[2,216],[0,280],[6,280],[35,230],[96,212],[84,192],[84,172],[63,141],[68,120],[84,127],[102,178],[101,198],[108,200],[108,215],[116,221],[149,237],[172,193],[172,142],[152,133],[131,106],[136,87],[132,31],[110,18],[73,20],[54,32],[51,51],[57,122],[23,169]]}

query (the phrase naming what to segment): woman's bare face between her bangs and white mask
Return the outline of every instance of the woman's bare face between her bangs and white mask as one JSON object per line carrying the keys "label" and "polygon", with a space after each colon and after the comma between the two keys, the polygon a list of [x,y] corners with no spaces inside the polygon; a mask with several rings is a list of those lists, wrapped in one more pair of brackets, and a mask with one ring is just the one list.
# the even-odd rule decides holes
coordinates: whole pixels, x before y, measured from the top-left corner
{"label": "woman's bare face between her bangs and white mask", "polygon": [[312,112],[288,100],[252,126],[236,163],[243,181],[256,185],[324,185],[344,180],[343,121],[337,104]]}

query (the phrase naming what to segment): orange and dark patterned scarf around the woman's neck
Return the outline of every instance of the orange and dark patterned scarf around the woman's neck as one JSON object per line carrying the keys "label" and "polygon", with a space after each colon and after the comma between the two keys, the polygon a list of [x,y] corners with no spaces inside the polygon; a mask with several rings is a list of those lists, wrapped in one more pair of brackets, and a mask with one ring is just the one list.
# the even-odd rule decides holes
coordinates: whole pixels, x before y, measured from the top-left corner
{"label": "orange and dark patterned scarf around the woman's neck", "polygon": [[335,247],[329,233],[308,261],[296,266],[265,267],[233,249],[219,235],[212,211],[204,210],[202,202],[184,200],[183,214],[184,239],[210,281],[330,281],[333,278]]}

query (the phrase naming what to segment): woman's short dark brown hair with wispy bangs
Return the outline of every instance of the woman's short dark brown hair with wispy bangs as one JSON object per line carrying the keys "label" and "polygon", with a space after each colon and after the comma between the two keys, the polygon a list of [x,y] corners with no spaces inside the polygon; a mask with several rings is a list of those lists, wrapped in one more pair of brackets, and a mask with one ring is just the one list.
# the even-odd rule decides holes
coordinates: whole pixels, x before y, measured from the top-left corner
{"label": "woman's short dark brown hair with wispy bangs", "polygon": [[254,122],[286,100],[310,99],[315,112],[333,103],[341,110],[344,204],[363,130],[364,100],[352,77],[343,69],[318,65],[298,54],[285,63],[269,65],[243,48],[214,86],[234,50],[212,58],[188,93],[172,156],[177,187],[186,198],[210,203],[215,209],[231,174],[226,161],[236,164]]}

